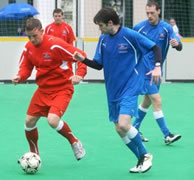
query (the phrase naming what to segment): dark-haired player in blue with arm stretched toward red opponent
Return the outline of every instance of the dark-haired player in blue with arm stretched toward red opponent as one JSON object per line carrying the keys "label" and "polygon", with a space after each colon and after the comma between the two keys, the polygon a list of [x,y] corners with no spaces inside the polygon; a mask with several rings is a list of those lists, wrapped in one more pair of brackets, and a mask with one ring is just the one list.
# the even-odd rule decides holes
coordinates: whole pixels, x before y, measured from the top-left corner
{"label": "dark-haired player in blue with arm stretched toward red opponent", "polygon": [[[161,61],[161,50],[140,33],[120,25],[119,16],[112,8],[101,9],[94,17],[102,35],[99,38],[93,60],[74,54],[74,59],[97,70],[104,69],[109,107],[109,120],[127,147],[136,155],[138,162],[132,173],[146,172],[152,167],[152,155],[148,153],[135,127],[132,117],[137,113],[138,95],[145,80],[142,57],[153,51],[155,62]],[[161,68],[157,66],[149,74],[159,82]]]}

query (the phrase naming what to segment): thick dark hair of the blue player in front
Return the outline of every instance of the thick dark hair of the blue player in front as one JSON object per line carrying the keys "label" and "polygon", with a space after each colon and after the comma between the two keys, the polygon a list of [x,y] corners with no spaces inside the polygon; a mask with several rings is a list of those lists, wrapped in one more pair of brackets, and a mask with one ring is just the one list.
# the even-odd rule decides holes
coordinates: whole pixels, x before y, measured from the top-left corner
{"label": "thick dark hair of the blue player in front", "polygon": [[120,24],[120,19],[116,11],[112,8],[102,8],[98,13],[95,15],[93,21],[95,24],[103,22],[108,24],[109,21],[112,21],[113,24],[118,25]]}

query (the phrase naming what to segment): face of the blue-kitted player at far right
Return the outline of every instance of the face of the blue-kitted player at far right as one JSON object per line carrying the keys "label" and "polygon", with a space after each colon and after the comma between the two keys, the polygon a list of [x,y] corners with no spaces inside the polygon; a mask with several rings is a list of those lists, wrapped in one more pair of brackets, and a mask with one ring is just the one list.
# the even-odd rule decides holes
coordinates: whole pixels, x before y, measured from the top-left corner
{"label": "face of the blue-kitted player at far right", "polygon": [[160,9],[156,10],[156,6],[146,6],[146,15],[150,24],[156,25],[158,23]]}

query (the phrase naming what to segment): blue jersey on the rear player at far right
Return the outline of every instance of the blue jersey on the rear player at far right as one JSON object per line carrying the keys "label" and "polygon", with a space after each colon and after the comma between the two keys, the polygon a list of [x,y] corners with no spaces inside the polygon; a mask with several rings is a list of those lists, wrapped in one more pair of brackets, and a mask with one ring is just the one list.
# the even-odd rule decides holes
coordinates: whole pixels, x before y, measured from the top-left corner
{"label": "blue jersey on the rear player at far right", "polygon": [[[143,34],[150,40],[154,41],[162,50],[162,65],[166,59],[169,42],[171,39],[176,39],[180,42],[179,37],[174,33],[172,26],[164,21],[159,21],[157,25],[152,25],[148,20],[140,22],[134,27],[134,30]],[[153,54],[149,54],[149,59],[152,62],[152,68],[155,65],[155,61],[153,59]]]}

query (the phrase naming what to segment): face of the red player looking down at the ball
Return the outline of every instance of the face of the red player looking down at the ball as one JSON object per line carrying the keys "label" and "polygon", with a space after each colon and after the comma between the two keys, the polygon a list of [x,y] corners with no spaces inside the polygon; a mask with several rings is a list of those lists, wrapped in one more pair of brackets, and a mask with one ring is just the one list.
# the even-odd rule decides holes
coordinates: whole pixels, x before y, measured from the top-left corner
{"label": "face of the red player looking down at the ball", "polygon": [[26,31],[30,42],[34,46],[38,46],[43,40],[43,29],[34,28],[32,31]]}

